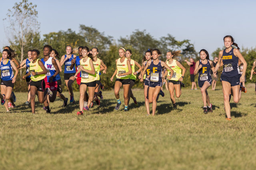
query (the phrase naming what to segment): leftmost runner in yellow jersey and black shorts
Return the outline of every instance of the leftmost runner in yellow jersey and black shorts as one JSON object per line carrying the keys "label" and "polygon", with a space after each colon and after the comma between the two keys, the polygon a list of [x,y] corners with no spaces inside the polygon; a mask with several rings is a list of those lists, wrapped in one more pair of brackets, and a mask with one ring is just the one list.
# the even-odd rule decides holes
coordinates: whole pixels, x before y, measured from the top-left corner
{"label": "leftmost runner in yellow jersey and black shorts", "polygon": [[46,68],[40,59],[38,59],[38,55],[40,52],[37,49],[33,49],[31,52],[31,58],[33,61],[30,62],[30,72],[24,75],[22,78],[26,79],[29,75],[31,75],[30,79],[30,105],[32,109],[32,114],[35,114],[35,96],[36,91],[38,93],[38,101],[39,103],[44,103],[47,100],[48,89],[44,91],[45,82],[44,78],[46,77]]}

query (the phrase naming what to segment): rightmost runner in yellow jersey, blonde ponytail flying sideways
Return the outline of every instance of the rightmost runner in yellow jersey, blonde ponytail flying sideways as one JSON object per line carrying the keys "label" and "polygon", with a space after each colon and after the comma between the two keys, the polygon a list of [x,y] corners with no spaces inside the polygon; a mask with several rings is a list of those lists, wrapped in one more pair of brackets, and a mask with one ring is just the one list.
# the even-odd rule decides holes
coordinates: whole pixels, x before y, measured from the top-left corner
{"label": "rightmost runner in yellow jersey, blonde ponytail flying sideways", "polygon": [[[179,51],[168,51],[166,53],[166,64],[173,69],[174,73],[172,77],[170,77],[170,71],[167,71],[167,79],[168,79],[168,89],[170,92],[170,97],[172,101],[172,105],[174,109],[177,109],[175,97],[174,97],[174,89],[176,97],[179,98],[181,95],[181,82],[183,81],[184,75],[185,75],[185,67],[181,65],[179,61],[176,60],[176,57],[180,56],[180,50]],[[181,73],[182,70],[182,73]],[[164,75],[165,77],[165,75]],[[182,83],[183,84],[183,83]],[[183,84],[184,85],[184,84]]]}

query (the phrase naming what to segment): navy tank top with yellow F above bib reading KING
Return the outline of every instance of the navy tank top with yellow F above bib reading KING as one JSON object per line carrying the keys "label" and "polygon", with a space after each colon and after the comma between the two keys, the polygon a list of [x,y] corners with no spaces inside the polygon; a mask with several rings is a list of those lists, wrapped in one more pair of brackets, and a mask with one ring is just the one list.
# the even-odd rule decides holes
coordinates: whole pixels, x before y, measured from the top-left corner
{"label": "navy tank top with yellow F above bib reading KING", "polygon": [[159,60],[159,63],[157,65],[154,65],[153,60],[151,60],[150,66],[150,81],[152,82],[162,82],[162,77],[161,77],[161,71],[162,71],[162,65],[161,65],[161,60]]}

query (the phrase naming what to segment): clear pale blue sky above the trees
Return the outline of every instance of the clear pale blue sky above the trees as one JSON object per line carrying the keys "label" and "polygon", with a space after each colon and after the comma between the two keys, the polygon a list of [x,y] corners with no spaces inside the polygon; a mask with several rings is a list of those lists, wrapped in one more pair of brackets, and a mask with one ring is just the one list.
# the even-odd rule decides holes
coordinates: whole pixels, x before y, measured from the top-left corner
{"label": "clear pale blue sky above the trees", "polygon": [[[6,17],[15,2],[8,0],[0,10]],[[154,38],[171,34],[176,40],[188,39],[196,51],[210,54],[223,47],[223,37],[231,35],[239,47],[256,47],[256,1],[254,0],[29,0],[37,5],[40,34],[79,25],[92,26],[116,42],[136,29]],[[0,20],[0,46],[9,45]],[[6,23],[5,23],[6,25]],[[42,37],[42,36],[41,36]],[[156,47],[157,48],[157,47]],[[162,51],[165,53],[164,51]]]}

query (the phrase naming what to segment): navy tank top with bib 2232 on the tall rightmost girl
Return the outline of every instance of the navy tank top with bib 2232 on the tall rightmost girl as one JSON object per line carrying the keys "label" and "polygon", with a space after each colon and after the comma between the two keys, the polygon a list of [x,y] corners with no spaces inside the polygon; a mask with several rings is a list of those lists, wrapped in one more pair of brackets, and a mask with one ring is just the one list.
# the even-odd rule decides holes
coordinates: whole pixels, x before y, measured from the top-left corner
{"label": "navy tank top with bib 2232 on the tall rightmost girl", "polygon": [[228,53],[226,53],[225,49],[223,50],[222,61],[223,61],[222,75],[226,77],[234,77],[240,74],[240,70],[238,67],[238,57],[234,55],[234,48],[232,48]]}

